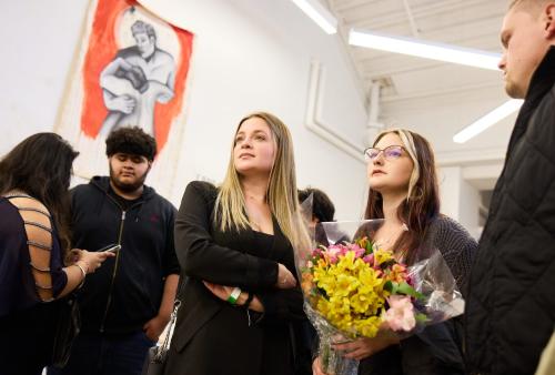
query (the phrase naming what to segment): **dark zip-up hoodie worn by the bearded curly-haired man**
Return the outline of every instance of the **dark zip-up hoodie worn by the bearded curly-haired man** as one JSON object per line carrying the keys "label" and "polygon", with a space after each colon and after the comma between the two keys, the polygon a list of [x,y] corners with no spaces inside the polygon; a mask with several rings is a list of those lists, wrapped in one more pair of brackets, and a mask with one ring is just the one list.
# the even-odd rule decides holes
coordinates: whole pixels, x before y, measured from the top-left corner
{"label": "dark zip-up hoodie worn by the bearded curly-haired man", "polygon": [[165,277],[179,274],[173,244],[175,207],[154,189],[127,211],[109,194],[109,178],[94,176],[72,192],[72,245],[97,251],[121,244],[87,275],[80,291],[82,331],[131,333],[158,314]]}

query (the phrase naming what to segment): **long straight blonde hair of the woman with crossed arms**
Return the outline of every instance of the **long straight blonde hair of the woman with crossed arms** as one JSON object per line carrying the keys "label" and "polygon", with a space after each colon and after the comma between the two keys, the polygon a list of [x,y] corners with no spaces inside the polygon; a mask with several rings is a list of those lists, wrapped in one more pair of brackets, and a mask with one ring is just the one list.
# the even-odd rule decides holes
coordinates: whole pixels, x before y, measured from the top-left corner
{"label": "long straight blonde hair of the woman with crossed arms", "polygon": [[[243,122],[259,118],[270,128],[275,144],[275,158],[266,190],[266,203],[275,216],[281,231],[293,244],[304,246],[307,239],[303,220],[301,217],[296,190],[295,161],[293,143],[287,126],[275,115],[266,112],[254,112],[243,118],[235,130],[235,135]],[[240,175],[235,170],[233,150],[235,136],[231,144],[231,158],[228,172],[223,180],[215,201],[214,221],[221,231],[248,230],[249,217],[245,211],[245,201],[241,189]]]}

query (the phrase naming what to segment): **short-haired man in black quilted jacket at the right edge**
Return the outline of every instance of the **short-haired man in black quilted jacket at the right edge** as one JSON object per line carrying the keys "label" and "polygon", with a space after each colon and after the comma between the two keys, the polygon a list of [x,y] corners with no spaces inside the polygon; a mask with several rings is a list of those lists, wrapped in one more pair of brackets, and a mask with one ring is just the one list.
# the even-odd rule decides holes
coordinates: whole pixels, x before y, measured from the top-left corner
{"label": "short-haired man in black quilted jacket at the right edge", "polygon": [[495,186],[466,304],[478,374],[534,374],[555,326],[555,1],[511,3],[506,91],[525,99]]}

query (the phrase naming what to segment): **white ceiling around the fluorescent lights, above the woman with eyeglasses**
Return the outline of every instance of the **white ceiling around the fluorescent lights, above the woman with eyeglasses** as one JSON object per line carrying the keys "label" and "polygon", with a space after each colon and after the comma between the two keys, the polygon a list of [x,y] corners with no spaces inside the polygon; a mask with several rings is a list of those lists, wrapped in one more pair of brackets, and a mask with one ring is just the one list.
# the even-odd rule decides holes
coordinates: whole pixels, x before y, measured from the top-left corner
{"label": "white ceiling around the fluorescent lights, above the woman with eyeglasses", "polygon": [[[325,0],[324,0],[325,1]],[[327,0],[347,40],[351,28],[501,53],[507,0]],[[502,74],[432,60],[347,47],[361,84],[384,87],[380,120],[428,138],[440,162],[496,160],[504,155],[514,115],[460,145],[452,136],[508,98]]]}

